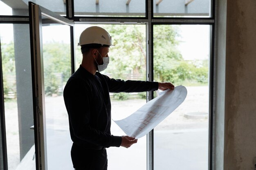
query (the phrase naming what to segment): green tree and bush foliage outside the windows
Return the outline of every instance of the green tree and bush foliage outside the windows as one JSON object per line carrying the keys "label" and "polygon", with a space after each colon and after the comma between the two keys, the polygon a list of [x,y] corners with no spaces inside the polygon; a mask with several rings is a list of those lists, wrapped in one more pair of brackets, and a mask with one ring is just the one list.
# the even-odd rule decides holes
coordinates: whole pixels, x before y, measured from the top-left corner
{"label": "green tree and bush foliage outside the windows", "polygon": [[[98,25],[109,31],[113,44],[110,47],[110,64],[103,74],[116,79],[130,79],[131,75],[140,75],[134,79],[146,79],[146,26],[128,24]],[[159,82],[208,82],[208,60],[185,61],[180,51],[179,26],[155,25],[153,27],[153,64],[154,78]],[[4,95],[16,94],[16,72],[14,44],[1,44]],[[80,48],[76,48],[76,57],[81,63]],[[63,86],[71,75],[70,44],[47,42],[43,44],[44,78],[46,95],[61,95]],[[145,98],[146,93],[138,96]],[[128,99],[129,94],[114,93],[113,98]]]}

